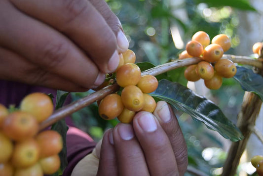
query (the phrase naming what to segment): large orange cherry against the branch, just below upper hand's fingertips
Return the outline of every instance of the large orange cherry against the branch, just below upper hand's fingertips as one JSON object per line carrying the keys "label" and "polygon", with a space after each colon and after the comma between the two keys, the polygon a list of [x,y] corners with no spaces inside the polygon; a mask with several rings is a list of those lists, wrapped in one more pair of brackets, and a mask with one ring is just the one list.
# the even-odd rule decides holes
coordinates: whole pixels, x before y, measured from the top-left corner
{"label": "large orange cherry against the branch, just below upper hand's fingertips", "polygon": [[121,66],[116,72],[116,82],[120,87],[137,85],[141,79],[141,69],[134,63]]}

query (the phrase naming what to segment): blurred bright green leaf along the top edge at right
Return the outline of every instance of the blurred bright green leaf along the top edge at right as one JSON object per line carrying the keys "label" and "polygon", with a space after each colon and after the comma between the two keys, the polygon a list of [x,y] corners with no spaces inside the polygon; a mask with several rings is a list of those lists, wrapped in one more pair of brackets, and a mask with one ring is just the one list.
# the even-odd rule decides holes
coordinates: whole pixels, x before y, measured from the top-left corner
{"label": "blurred bright green leaf along the top edge at right", "polygon": [[196,0],[198,3],[207,3],[210,7],[230,6],[240,10],[257,11],[249,0]]}

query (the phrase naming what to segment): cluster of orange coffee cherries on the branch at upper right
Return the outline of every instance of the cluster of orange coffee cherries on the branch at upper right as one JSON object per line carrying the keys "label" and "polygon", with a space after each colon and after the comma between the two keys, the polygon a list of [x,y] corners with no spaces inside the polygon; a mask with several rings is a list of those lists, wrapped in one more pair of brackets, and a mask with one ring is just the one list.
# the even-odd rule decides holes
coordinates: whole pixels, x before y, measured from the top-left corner
{"label": "cluster of orange coffee cherries on the branch at upper right", "polygon": [[223,78],[231,78],[236,74],[235,64],[229,59],[222,59],[224,52],[230,47],[230,40],[225,34],[215,36],[210,44],[210,37],[206,32],[196,32],[179,59],[198,57],[201,61],[188,66],[185,78],[192,82],[203,79],[207,88],[219,89]]}

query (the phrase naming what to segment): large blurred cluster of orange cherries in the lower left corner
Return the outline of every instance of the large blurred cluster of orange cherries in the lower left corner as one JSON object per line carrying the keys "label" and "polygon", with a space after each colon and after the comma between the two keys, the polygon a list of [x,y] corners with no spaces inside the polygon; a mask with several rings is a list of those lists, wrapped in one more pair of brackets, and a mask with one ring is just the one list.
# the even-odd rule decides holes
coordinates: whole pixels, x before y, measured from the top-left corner
{"label": "large blurred cluster of orange cherries in the lower left corner", "polygon": [[40,92],[24,97],[20,107],[0,104],[0,176],[43,176],[60,168],[62,136],[39,132],[39,123],[53,113],[51,98]]}

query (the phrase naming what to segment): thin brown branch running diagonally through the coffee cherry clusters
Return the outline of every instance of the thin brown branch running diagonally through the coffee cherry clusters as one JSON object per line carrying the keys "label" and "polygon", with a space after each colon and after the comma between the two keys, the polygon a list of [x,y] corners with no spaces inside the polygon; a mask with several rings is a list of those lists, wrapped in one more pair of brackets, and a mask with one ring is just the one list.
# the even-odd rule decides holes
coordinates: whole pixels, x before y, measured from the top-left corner
{"label": "thin brown branch running diagonally through the coffee cherry clusters", "polygon": [[[252,65],[258,68],[263,68],[263,63],[261,61],[251,59],[250,57],[245,57],[245,56],[235,56],[235,55],[223,55],[222,58],[228,58],[232,60],[233,62],[240,63],[240,64],[247,64],[247,65]],[[157,76],[162,73],[168,72],[170,70],[184,67],[184,66],[189,66],[192,64],[197,64],[200,62],[200,58],[187,58],[183,60],[174,60],[162,65],[158,65],[156,67],[150,68],[146,71],[143,71],[141,75],[152,75],[152,76]],[[56,110],[47,120],[43,121],[40,123],[40,130],[43,130],[52,124],[56,123],[57,121],[63,119],[66,116],[69,116],[73,114],[74,112],[90,105],[93,102],[96,102],[97,100],[100,100],[104,98],[106,95],[113,93],[117,91],[119,86],[117,84],[110,85],[106,88],[100,89],[96,92],[93,92],[83,98],[78,99],[75,102],[72,102],[69,105],[66,105],[58,110]]]}

